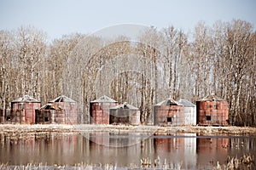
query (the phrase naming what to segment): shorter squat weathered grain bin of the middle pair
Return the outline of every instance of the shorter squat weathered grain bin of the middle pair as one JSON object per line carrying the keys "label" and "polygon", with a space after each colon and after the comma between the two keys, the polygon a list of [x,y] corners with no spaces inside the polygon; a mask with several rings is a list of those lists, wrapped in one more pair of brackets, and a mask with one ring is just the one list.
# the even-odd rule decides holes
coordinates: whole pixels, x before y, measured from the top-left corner
{"label": "shorter squat weathered grain bin of the middle pair", "polygon": [[137,107],[127,103],[112,107],[110,108],[109,123],[139,125],[140,110]]}

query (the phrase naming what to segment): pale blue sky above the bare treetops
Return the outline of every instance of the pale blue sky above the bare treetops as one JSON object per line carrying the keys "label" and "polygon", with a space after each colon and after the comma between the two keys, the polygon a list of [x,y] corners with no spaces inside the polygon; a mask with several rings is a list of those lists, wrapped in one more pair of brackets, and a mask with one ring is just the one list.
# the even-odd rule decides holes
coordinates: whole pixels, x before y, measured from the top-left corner
{"label": "pale blue sky above the bare treetops", "polygon": [[203,20],[247,20],[256,26],[255,0],[0,0],[0,30],[35,26],[49,39],[131,23],[193,30]]}

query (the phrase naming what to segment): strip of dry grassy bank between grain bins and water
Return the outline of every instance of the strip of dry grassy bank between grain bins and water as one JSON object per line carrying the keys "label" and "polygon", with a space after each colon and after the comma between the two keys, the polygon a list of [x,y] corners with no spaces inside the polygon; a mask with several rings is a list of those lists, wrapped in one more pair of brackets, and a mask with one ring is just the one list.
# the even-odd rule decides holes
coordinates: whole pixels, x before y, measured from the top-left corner
{"label": "strip of dry grassy bank between grain bins and water", "polygon": [[111,133],[200,133],[200,134],[256,134],[256,127],[156,127],[156,126],[125,126],[125,125],[20,125],[2,124],[0,134],[15,133],[91,133],[91,132],[111,132]]}

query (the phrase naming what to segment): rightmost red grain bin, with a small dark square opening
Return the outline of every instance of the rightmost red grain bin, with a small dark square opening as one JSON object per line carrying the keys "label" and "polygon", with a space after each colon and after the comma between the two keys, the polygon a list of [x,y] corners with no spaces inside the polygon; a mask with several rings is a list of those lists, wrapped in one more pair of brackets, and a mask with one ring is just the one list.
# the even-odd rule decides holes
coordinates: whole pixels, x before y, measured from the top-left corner
{"label": "rightmost red grain bin, with a small dark square opening", "polygon": [[215,94],[209,94],[196,101],[196,116],[199,125],[227,126],[229,103]]}

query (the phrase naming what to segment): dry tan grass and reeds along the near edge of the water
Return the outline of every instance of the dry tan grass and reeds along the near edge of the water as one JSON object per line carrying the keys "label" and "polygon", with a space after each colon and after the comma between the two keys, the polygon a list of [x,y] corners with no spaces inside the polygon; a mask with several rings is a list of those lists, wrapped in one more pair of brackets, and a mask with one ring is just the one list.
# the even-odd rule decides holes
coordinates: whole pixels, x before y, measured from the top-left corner
{"label": "dry tan grass and reeds along the near edge of the water", "polygon": [[[28,163],[26,165],[9,165],[8,163],[0,162],[0,170],[32,170],[32,169],[38,169],[38,170],[45,170],[45,169],[107,169],[107,170],[113,170],[113,169],[185,169],[183,167],[182,161],[178,164],[172,164],[171,162],[167,162],[166,159],[160,160],[160,157],[156,158],[155,160],[151,160],[149,158],[143,158],[141,159],[141,164],[131,164],[127,167],[118,167],[117,164],[87,164],[84,162],[75,164],[73,166],[68,165],[47,165],[47,163]],[[212,169],[214,170],[223,170],[223,169],[255,169],[255,159],[254,156],[251,154],[244,154],[241,157],[237,156],[228,156],[227,161],[224,164],[219,164],[218,161],[214,164],[212,164]]]}

